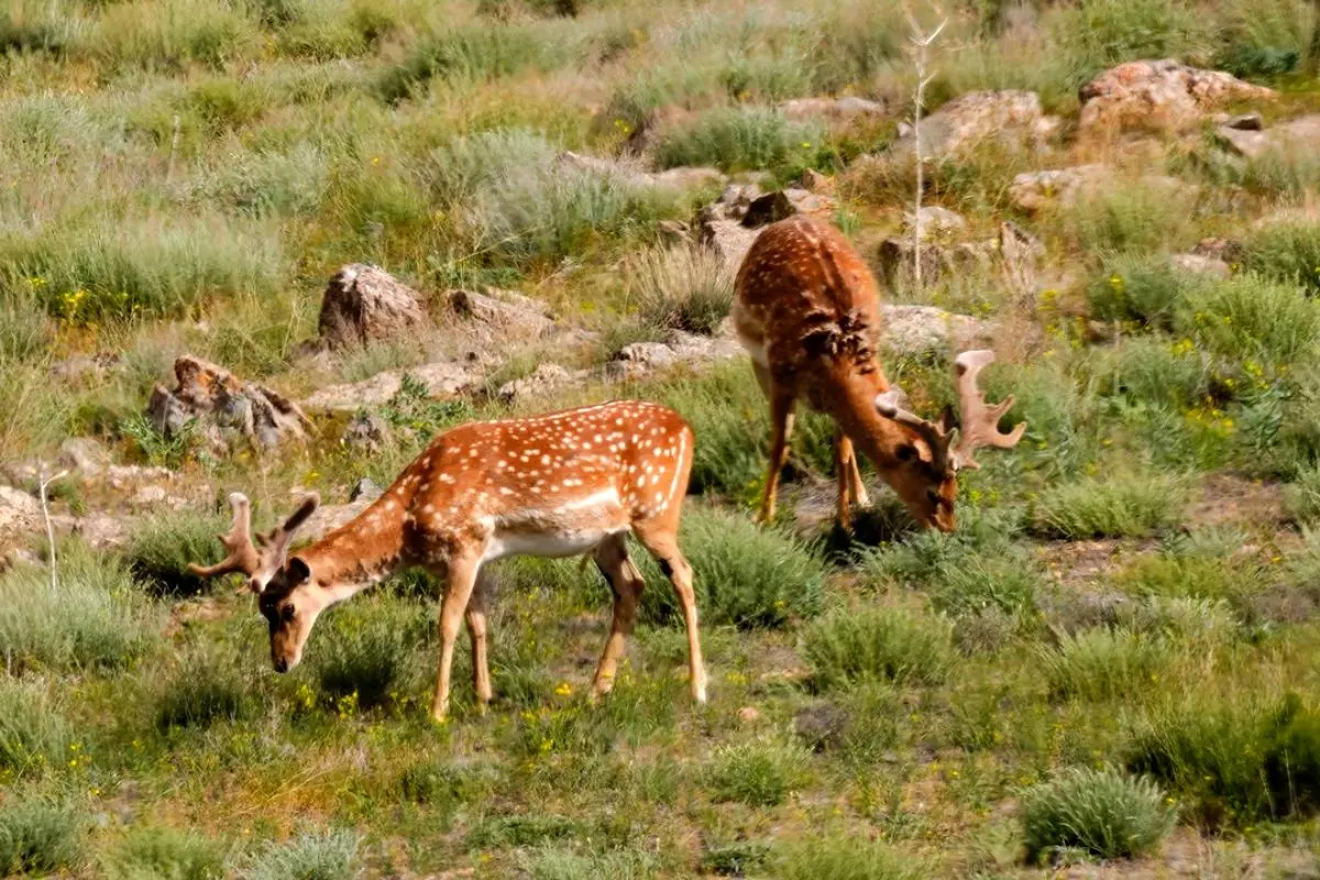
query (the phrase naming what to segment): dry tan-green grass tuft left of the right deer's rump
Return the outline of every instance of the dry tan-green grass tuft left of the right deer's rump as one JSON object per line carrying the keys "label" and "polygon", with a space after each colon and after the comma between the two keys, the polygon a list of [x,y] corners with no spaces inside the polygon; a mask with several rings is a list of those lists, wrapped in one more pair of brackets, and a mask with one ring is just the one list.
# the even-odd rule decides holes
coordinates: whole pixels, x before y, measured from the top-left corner
{"label": "dry tan-green grass tuft left of the right deer's rump", "polygon": [[734,299],[734,272],[705,247],[648,249],[631,267],[642,322],[659,330],[714,334]]}

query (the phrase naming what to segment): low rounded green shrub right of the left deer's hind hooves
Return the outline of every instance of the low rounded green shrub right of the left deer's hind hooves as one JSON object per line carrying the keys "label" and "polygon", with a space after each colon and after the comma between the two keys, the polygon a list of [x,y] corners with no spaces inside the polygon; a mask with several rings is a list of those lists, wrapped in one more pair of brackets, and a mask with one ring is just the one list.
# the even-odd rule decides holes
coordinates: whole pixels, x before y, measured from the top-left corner
{"label": "low rounded green shrub right of the left deer's hind hooves", "polygon": [[867,681],[940,682],[953,665],[952,623],[898,608],[830,613],[807,629],[803,643],[822,689]]}

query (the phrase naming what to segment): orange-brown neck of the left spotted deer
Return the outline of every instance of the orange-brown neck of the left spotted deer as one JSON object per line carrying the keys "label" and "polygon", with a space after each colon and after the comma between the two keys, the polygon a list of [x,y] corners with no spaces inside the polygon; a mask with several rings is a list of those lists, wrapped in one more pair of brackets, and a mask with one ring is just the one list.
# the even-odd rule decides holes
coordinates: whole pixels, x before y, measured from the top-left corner
{"label": "orange-brown neck of the left spotted deer", "polygon": [[407,499],[391,489],[297,555],[331,602],[342,602],[403,565],[405,516]]}

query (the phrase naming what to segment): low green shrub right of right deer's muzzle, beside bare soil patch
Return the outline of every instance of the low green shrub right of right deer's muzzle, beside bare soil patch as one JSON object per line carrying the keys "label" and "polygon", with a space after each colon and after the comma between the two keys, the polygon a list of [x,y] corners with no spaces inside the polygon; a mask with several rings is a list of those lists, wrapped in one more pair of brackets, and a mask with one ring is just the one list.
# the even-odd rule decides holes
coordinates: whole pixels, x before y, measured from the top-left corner
{"label": "low green shrub right of right deer's muzzle, beside bare soil patch", "polygon": [[1032,529],[1049,538],[1148,537],[1177,524],[1181,486],[1166,476],[1089,478],[1056,486],[1032,504]]}

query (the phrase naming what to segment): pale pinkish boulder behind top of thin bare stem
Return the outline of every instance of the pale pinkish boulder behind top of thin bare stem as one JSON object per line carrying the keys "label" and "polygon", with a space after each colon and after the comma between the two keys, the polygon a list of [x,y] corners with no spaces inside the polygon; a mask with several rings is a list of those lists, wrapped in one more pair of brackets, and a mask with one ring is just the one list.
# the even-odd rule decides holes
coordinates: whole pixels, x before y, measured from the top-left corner
{"label": "pale pinkish boulder behind top of thin bare stem", "polygon": [[[940,160],[987,140],[1032,145],[1052,131],[1053,123],[1041,113],[1036,92],[968,92],[921,120],[921,156]],[[916,133],[907,131],[894,144],[890,154],[908,156],[916,145]]]}

